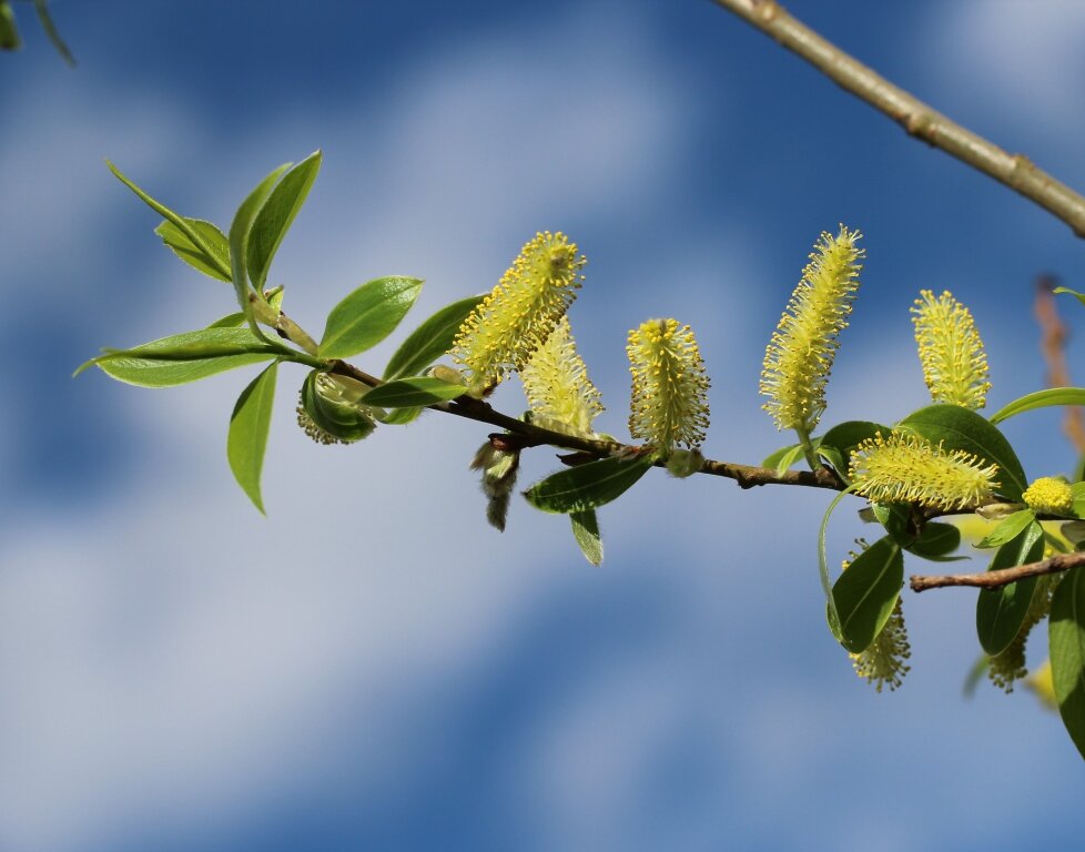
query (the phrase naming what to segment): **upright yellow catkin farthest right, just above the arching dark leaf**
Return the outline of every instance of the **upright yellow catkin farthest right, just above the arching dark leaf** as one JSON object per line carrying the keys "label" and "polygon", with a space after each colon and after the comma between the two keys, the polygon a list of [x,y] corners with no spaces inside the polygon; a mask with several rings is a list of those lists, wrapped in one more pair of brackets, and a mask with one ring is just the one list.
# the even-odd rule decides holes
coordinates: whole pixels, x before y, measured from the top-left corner
{"label": "upright yellow catkin farthest right, just above the arching dark leaf", "polygon": [[945,291],[920,292],[912,307],[923,378],[935,403],[983,408],[987,402],[987,355],[972,313]]}

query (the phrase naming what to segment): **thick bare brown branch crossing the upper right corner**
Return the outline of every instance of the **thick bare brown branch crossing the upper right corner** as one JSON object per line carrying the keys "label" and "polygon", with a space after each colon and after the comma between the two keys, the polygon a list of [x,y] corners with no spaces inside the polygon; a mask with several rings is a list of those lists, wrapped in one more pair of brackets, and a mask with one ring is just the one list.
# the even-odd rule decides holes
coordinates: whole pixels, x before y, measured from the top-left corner
{"label": "thick bare brown branch crossing the upper right corner", "polygon": [[775,0],[713,2],[802,57],[842,89],[889,115],[911,135],[994,178],[1085,237],[1085,197],[1037,169],[1023,154],[1004,151],[889,82],[792,18]]}

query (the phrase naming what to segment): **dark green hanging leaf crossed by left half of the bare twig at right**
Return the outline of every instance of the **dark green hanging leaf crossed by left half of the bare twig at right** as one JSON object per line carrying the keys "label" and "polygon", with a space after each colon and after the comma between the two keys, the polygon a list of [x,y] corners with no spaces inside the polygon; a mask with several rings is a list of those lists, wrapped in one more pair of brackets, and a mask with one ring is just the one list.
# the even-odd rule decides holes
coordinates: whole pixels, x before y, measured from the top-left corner
{"label": "dark green hanging leaf crossed by left half of the bare twig at right", "polygon": [[[1033,520],[995,551],[987,570],[1013,568],[1015,565],[1035,562],[1043,558],[1044,530]],[[1036,578],[1026,577],[997,589],[980,589],[976,601],[976,635],[987,655],[994,657],[1004,651],[1017,636],[1028,613],[1035,588]]]}

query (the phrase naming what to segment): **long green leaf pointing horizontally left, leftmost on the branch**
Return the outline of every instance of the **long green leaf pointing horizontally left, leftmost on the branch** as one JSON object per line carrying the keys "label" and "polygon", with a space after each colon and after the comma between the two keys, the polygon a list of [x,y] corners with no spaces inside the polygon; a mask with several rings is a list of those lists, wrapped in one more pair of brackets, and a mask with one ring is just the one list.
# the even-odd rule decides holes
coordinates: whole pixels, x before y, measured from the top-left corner
{"label": "long green leaf pointing horizontally left, leftmost on the branch", "polygon": [[170,387],[216,373],[293,354],[257,341],[249,328],[203,328],[111,352],[83,364],[99,367],[118,382],[140,387]]}

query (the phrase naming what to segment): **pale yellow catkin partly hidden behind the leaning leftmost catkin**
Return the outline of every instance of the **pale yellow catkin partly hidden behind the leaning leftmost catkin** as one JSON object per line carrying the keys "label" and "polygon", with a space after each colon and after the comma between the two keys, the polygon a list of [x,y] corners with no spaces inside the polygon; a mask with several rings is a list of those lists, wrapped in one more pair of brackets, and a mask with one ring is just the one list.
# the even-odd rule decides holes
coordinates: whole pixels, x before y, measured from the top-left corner
{"label": "pale yellow catkin partly hidden behind the leaning leftmost catkin", "polygon": [[546,343],[520,369],[520,379],[540,426],[570,435],[594,434],[592,420],[602,413],[601,396],[577,354],[569,317],[558,321]]}

